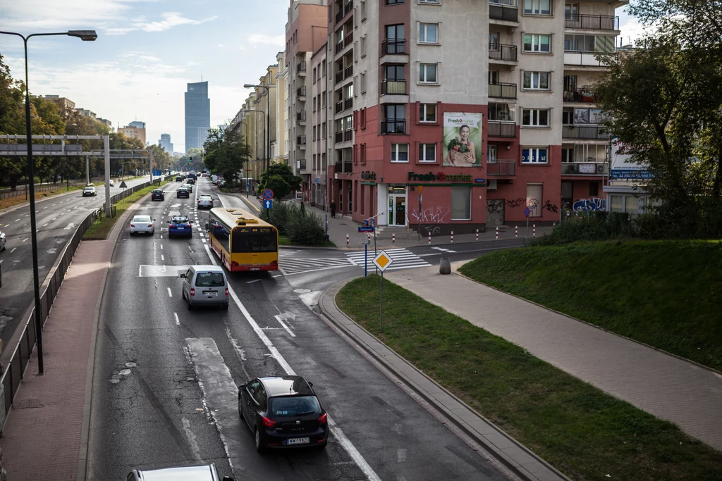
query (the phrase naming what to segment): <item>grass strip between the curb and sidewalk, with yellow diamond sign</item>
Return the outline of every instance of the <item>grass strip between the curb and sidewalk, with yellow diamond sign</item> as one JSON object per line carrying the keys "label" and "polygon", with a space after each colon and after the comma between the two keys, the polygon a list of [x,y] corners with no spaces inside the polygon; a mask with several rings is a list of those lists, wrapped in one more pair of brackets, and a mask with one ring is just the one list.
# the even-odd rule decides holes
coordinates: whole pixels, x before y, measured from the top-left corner
{"label": "grass strip between the curb and sidewalk, with yellow diamond sign", "polygon": [[379,332],[379,279],[339,307],[573,480],[722,479],[722,453],[389,281]]}

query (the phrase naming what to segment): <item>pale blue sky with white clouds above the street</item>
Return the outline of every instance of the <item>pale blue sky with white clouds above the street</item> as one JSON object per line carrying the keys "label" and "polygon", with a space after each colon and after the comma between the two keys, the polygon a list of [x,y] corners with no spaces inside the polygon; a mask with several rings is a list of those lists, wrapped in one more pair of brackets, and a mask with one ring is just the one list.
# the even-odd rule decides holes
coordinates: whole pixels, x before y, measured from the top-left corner
{"label": "pale blue sky with white clouds above the street", "polygon": [[[35,37],[28,42],[31,94],[56,94],[118,125],[146,123],[146,140],[170,133],[185,151],[186,84],[209,82],[211,126],[240,110],[284,48],[289,0],[0,0],[0,30],[96,30],[95,42]],[[640,35],[618,9],[625,44]],[[22,40],[0,35],[11,74],[23,72]]]}

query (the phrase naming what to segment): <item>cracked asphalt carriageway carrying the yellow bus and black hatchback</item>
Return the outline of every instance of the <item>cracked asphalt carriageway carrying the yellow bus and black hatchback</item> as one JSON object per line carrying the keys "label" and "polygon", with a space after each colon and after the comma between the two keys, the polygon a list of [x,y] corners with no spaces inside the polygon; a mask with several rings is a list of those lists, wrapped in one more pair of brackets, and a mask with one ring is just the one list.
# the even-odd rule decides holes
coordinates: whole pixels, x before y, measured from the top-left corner
{"label": "cracked asphalt carriageway carrying the yellow bus and black hatchback", "polygon": [[[199,190],[212,191],[206,178],[191,199],[170,193],[138,213],[162,227],[175,212],[196,219]],[[199,462],[237,480],[505,479],[309,309],[323,284],[301,282],[309,273],[234,273],[228,311],[188,311],[179,266],[217,262],[200,229],[204,213],[197,219],[193,239],[167,239],[165,228],[119,239],[100,312],[88,479]],[[329,412],[329,446],[256,454],[236,386],[288,373],[314,383]]]}

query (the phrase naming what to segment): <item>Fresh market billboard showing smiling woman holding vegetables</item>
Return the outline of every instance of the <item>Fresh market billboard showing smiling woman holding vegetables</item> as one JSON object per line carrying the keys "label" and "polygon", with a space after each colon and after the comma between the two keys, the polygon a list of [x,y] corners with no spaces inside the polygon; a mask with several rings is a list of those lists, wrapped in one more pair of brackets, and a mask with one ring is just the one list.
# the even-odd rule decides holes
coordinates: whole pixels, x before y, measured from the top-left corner
{"label": "Fresh market billboard showing smiling woman holding vegetables", "polygon": [[444,112],[444,167],[482,167],[482,114]]}

